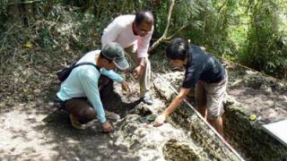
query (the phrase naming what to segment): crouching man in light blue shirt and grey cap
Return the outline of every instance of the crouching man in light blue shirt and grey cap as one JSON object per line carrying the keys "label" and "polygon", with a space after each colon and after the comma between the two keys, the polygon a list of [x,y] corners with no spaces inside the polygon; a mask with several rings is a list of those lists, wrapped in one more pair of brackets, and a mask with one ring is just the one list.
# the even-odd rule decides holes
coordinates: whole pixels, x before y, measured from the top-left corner
{"label": "crouching man in light blue shirt and grey cap", "polygon": [[[70,113],[72,125],[83,129],[84,123],[98,118],[104,132],[112,131],[111,124],[106,120],[105,110],[100,100],[100,75],[109,77],[122,84],[129,92],[129,87],[123,78],[114,72],[116,68],[126,70],[129,64],[125,51],[117,43],[109,43],[100,50],[94,50],[84,55],[77,64],[91,63],[98,66],[82,65],[73,69],[61,84],[57,97],[65,102],[65,109]],[[88,101],[87,101],[88,99]]]}

